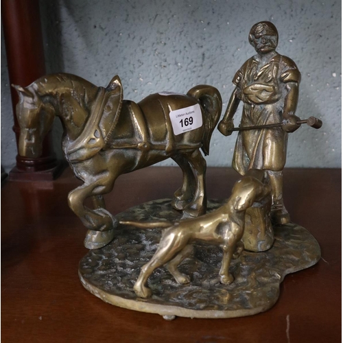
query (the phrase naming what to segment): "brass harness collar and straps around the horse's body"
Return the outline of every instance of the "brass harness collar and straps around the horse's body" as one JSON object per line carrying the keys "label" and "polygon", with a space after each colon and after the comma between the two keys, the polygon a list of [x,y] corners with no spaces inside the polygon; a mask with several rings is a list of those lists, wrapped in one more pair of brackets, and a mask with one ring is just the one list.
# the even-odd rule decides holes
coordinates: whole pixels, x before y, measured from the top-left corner
{"label": "brass harness collar and straps around the horse's body", "polygon": [[[136,169],[143,163],[150,150],[164,150],[167,154],[175,150],[176,147],[169,113],[167,113],[161,102],[160,106],[167,126],[165,142],[159,144],[150,143],[150,135],[147,130],[147,123],[143,111],[135,102],[126,101],[124,106],[126,106],[132,122],[136,124],[135,130],[137,130],[137,134],[140,137],[140,142],[134,144],[117,142],[115,145],[110,143],[111,135],[115,130],[119,115],[121,114],[122,105],[123,92],[121,87],[116,87],[114,90],[99,87],[95,102],[91,106],[91,115],[84,126],[84,130],[82,130],[82,133],[75,141],[67,145],[66,151],[64,151],[69,163],[78,163],[92,158],[106,147],[110,149],[139,149],[141,154],[134,167]],[[201,144],[195,144],[194,146],[185,145],[185,147],[178,145],[178,150],[197,149],[200,146]]]}

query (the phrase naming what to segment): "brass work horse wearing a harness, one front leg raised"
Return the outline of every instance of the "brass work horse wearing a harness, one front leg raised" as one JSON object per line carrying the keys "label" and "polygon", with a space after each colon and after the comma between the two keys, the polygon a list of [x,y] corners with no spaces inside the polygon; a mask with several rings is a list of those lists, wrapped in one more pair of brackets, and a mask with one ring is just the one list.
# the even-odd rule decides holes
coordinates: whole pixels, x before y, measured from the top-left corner
{"label": "brass work horse wearing a harness, one front leg raised", "polygon": [[[137,104],[123,100],[118,76],[106,88],[67,73],[45,75],[25,88],[14,88],[20,98],[16,115],[21,156],[40,156],[55,115],[62,121],[62,149],[75,176],[84,182],[69,193],[68,202],[88,228],[86,248],[101,248],[114,238],[117,220],[105,209],[103,195],[112,191],[117,177],[169,157],[183,171],[182,187],[172,200],[174,209],[182,211],[182,217],[206,212],[206,162],[200,148],[209,154],[211,134],[220,119],[222,99],[216,88],[195,86],[187,95],[156,93]],[[202,126],[174,134],[169,112],[197,104]],[[84,206],[88,197],[94,209]]]}

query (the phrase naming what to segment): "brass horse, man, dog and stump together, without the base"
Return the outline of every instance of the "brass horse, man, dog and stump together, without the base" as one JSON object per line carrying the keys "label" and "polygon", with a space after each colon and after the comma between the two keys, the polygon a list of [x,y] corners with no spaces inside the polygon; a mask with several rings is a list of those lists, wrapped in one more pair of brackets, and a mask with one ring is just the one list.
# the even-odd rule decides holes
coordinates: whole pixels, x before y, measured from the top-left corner
{"label": "brass horse, man, dog and stump together, without the base", "polygon": [[[213,86],[193,87],[187,95],[156,93],[138,103],[123,99],[118,76],[106,88],[66,73],[43,76],[25,88],[14,86],[20,96],[16,112],[21,156],[38,157],[54,117],[62,121],[64,154],[75,176],[84,182],[69,193],[68,202],[88,228],[87,248],[102,248],[115,238],[119,223],[106,210],[103,196],[112,191],[119,175],[169,157],[182,169],[182,186],[171,200],[174,209],[182,211],[180,220],[120,222],[163,229],[158,249],[134,285],[137,296],[151,296],[147,279],[163,265],[178,283],[189,283],[178,265],[189,257],[197,240],[222,248],[220,281],[232,283],[231,259],[244,248],[268,250],[274,241],[272,224],[290,222],[283,203],[288,133],[301,123],[320,128],[321,122],[296,117],[300,72],[290,58],[276,52],[278,40],[272,23],[252,26],[249,43],[257,54],[235,74],[235,89],[218,126],[222,97]],[[233,117],[240,102],[243,113],[235,128]],[[216,126],[225,136],[239,131],[233,168],[242,177],[225,204],[206,213],[206,161],[200,149],[209,154]],[[84,205],[86,198],[93,200],[93,209]],[[252,218],[249,223],[246,213]]]}

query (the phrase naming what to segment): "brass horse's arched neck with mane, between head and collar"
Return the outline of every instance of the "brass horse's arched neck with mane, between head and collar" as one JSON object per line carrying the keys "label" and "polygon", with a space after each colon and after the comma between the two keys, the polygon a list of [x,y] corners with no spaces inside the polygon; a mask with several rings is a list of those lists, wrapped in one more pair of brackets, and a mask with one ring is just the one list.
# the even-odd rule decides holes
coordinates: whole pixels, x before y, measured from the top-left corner
{"label": "brass horse's arched neck with mane, between head and collar", "polygon": [[96,99],[99,88],[91,82],[75,75],[49,75],[49,80],[40,83],[40,97],[45,103],[54,106],[56,116],[60,117],[64,133],[73,141],[84,129]]}

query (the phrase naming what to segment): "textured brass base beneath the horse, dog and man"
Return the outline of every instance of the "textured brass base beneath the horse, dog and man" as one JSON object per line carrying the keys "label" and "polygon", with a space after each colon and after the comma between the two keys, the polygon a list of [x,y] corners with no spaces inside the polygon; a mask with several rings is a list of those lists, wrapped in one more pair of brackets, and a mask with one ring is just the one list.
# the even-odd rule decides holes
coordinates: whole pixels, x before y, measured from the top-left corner
{"label": "textured brass base beneath the horse, dog and man", "polygon": [[[116,219],[177,220],[180,212],[172,209],[170,202],[146,202],[119,213]],[[221,204],[211,200],[209,211]],[[309,268],[320,259],[318,242],[305,228],[296,224],[275,226],[274,236],[270,250],[244,251],[232,261],[230,272],[235,281],[230,285],[220,283],[221,249],[198,242],[193,256],[179,267],[191,282],[179,285],[165,268],[157,268],[148,280],[152,297],[142,299],[134,294],[133,285],[141,267],[154,255],[161,230],[119,225],[108,246],[90,250],[80,261],[79,276],[82,285],[106,303],[167,319],[251,316],[276,303],[285,275]]]}

